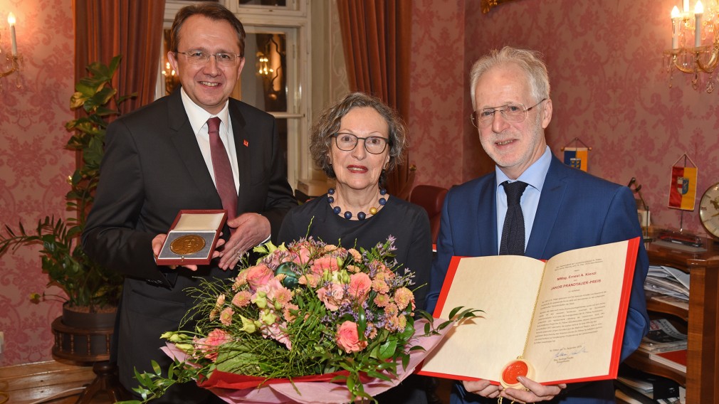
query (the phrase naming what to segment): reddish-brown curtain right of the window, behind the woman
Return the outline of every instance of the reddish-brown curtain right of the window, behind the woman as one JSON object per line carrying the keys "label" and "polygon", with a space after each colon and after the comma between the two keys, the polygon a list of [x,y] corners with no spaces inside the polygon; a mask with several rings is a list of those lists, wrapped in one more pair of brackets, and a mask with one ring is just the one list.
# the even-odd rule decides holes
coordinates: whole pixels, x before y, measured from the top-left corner
{"label": "reddish-brown curtain right of the window, behind the woman", "polygon": [[[412,4],[409,0],[337,0],[351,91],[377,96],[409,116]],[[405,163],[388,173],[387,188],[409,198],[414,172]]]}

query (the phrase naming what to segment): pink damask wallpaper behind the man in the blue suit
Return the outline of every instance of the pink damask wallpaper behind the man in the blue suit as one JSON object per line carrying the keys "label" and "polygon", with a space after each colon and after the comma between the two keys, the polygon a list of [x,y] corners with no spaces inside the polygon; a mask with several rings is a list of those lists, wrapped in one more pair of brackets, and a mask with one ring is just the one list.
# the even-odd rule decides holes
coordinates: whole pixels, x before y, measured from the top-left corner
{"label": "pink damask wallpaper behind the man in the blue suit", "polygon": [[620,184],[637,178],[653,224],[705,234],[697,211],[667,208],[670,170],[684,152],[699,167],[697,205],[719,182],[719,90],[695,91],[690,75],[676,72],[669,88],[663,69],[678,0],[515,0],[489,14],[475,0],[415,4],[416,183],[449,187],[492,169],[468,118],[469,70],[490,49],[526,47],[549,67],[554,154],[581,139],[592,147],[590,173]]}

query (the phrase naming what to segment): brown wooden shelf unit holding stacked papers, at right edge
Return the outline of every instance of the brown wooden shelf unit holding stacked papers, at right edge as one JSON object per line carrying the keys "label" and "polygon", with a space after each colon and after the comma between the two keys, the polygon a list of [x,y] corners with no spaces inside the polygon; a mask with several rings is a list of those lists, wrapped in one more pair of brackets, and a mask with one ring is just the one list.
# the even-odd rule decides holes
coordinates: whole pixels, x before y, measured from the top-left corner
{"label": "brown wooden shelf unit holding stacked papers, at right edge", "polygon": [[649,300],[649,311],[669,313],[687,321],[687,374],[649,362],[634,354],[627,359],[633,367],[677,380],[687,388],[687,403],[719,403],[719,245],[707,240],[706,252],[684,252],[649,244],[651,265],[675,267],[690,274],[689,312]]}

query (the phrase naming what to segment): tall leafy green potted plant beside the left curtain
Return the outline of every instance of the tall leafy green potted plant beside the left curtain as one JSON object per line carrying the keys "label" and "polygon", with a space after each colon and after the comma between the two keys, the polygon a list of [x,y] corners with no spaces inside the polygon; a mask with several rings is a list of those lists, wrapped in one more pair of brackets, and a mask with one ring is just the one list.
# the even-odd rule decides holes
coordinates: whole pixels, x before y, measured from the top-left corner
{"label": "tall leafy green potted plant beside the left curtain", "polygon": [[[65,195],[68,211],[73,211],[77,217],[63,221],[54,216],[45,216],[45,219],[37,222],[37,227],[33,231],[27,231],[21,222],[17,229],[5,225],[4,234],[0,234],[0,254],[24,245],[42,245],[40,250],[42,272],[47,273],[50,279],[47,285],[57,285],[65,293],[65,296],[60,296],[65,300],[63,316],[52,324],[55,332],[53,354],[59,357],[63,357],[65,351],[63,344],[70,344],[69,341],[59,341],[63,339],[64,334],[72,332],[68,329],[109,328],[111,334],[114,312],[122,293],[122,275],[91,260],[85,254],[80,240],[93,202],[94,190],[99,181],[100,162],[104,154],[104,138],[109,119],[119,116],[117,106],[135,96],[135,94],[118,96],[112,86],[112,78],[119,66],[120,58],[119,55],[115,56],[109,65],[99,62],[89,65],[87,68],[89,75],[75,85],[75,93],[70,98],[70,109],[82,108],[85,111],[80,118],[65,124],[65,128],[73,132],[65,148],[80,152],[82,156],[82,163],[68,178],[70,190]],[[42,293],[42,295],[34,294],[32,298],[40,300],[47,297],[49,295]],[[90,323],[80,326],[76,322],[78,321],[76,313],[91,313],[93,316],[90,316],[92,318]],[[103,313],[106,313],[105,322],[96,321],[95,319],[99,318],[97,315]],[[86,321],[85,318],[80,316],[79,321]],[[106,321],[109,321],[109,326]],[[107,335],[100,334],[107,334],[106,332],[88,332],[89,334],[83,331],[81,335],[87,335],[86,339],[99,335],[102,339],[99,345],[104,345]],[[73,334],[73,336],[77,335]],[[91,349],[81,347],[83,338],[80,338],[77,345],[81,349],[80,359],[69,359],[85,362],[83,353],[90,355],[91,352],[88,351]],[[78,352],[74,346],[67,346],[67,349]]]}

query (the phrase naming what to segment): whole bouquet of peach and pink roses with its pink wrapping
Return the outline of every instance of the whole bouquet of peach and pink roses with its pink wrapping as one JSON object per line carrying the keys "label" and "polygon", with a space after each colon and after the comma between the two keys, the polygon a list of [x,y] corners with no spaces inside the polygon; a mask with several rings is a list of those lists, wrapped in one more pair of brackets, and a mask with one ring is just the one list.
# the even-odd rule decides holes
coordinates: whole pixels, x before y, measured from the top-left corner
{"label": "whole bouquet of peach and pink roses with its pink wrapping", "polygon": [[163,334],[174,363],[167,376],[156,362],[153,373],[136,372],[133,390],[147,401],[195,380],[230,403],[319,402],[318,393],[347,403],[388,390],[452,321],[475,316],[457,308],[450,321],[435,321],[415,311],[413,275],[393,271],[394,249],[392,237],[371,250],[311,237],[256,247],[262,257],[236,278],[189,290],[195,331]]}

